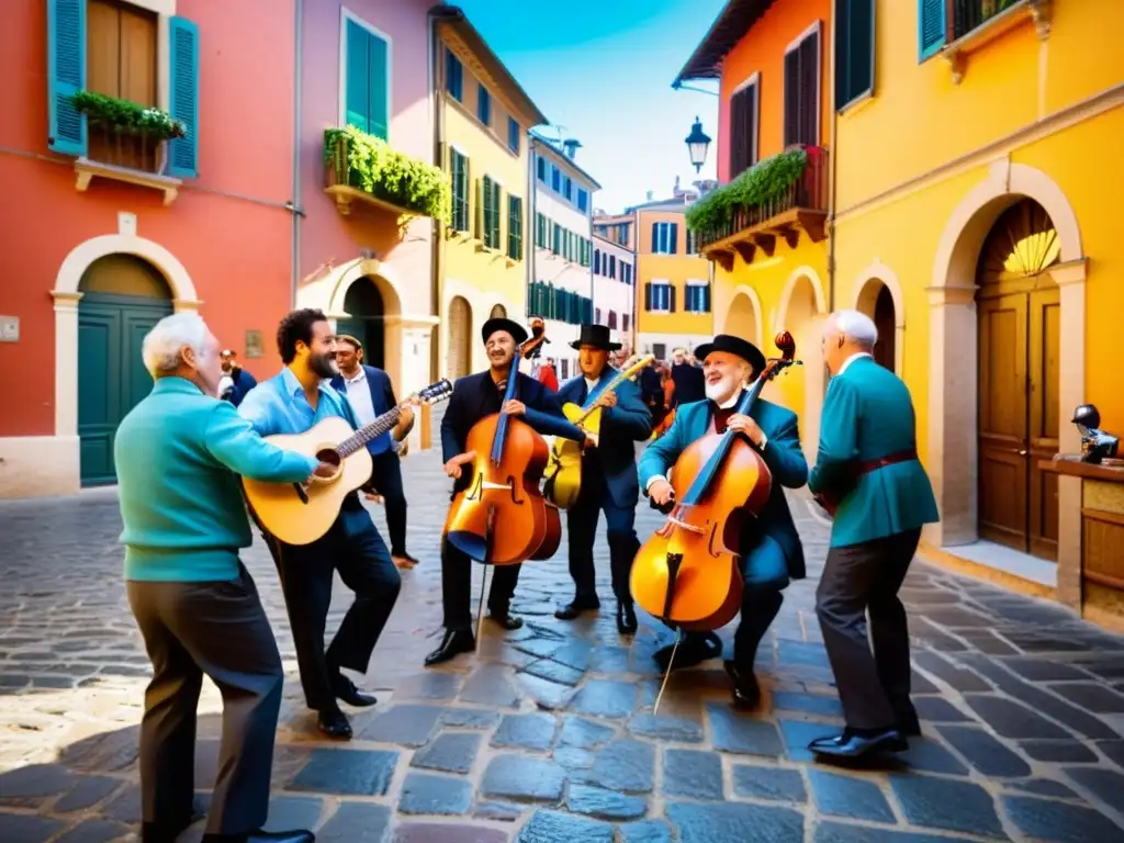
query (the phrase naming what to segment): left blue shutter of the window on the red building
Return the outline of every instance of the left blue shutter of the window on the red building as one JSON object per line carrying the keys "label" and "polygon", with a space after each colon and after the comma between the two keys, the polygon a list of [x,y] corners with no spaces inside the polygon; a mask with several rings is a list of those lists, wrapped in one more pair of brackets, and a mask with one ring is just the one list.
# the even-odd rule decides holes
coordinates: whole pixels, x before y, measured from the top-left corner
{"label": "left blue shutter of the window on the red building", "polygon": [[85,0],[47,0],[47,146],[85,155],[85,116],[71,97],[85,88]]}

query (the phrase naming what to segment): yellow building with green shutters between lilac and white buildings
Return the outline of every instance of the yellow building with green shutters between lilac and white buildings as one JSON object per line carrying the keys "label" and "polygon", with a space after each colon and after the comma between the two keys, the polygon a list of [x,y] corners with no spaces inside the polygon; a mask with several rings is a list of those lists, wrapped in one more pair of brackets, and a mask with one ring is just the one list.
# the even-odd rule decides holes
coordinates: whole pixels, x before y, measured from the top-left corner
{"label": "yellow building with green shutters between lilac and white buildings", "polygon": [[546,118],[460,9],[437,20],[437,142],[452,182],[452,215],[438,238],[434,278],[442,329],[438,372],[487,366],[480,327],[490,316],[526,320],[527,133]]}

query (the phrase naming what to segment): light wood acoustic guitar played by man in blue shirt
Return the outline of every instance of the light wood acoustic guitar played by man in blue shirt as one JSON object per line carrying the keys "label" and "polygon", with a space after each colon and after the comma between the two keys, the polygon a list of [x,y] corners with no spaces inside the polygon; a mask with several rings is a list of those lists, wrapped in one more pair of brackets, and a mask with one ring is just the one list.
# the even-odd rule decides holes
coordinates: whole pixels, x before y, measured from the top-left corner
{"label": "light wood acoustic guitar played by man in blue shirt", "polygon": [[265,483],[242,478],[246,502],[259,526],[285,544],[311,544],[323,536],[339,515],[344,498],[371,479],[371,454],[366,443],[398,424],[408,405],[437,404],[453,393],[447,380],[433,383],[409,396],[374,422],[353,430],[346,419],[332,416],[305,433],[266,436],[270,444],[315,456],[335,466],[332,477],[316,477],[305,483]]}

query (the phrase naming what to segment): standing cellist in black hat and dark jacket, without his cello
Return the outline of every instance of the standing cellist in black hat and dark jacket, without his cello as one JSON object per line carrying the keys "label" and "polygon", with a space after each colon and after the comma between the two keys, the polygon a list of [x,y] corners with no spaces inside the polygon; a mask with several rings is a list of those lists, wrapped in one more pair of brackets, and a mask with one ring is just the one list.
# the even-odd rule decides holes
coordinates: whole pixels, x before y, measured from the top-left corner
{"label": "standing cellist in black hat and dark jacket, without his cello", "polygon": [[[493,318],[480,332],[488,353],[487,372],[457,379],[453,395],[441,420],[441,446],[445,473],[453,478],[453,495],[466,482],[469,473],[463,466],[469,462],[464,453],[472,426],[486,416],[504,413],[522,416],[538,433],[575,439],[596,446],[597,437],[584,434],[570,424],[562,413],[558,396],[529,375],[519,372],[516,363],[518,346],[527,339],[527,332],[511,319]],[[515,377],[515,396],[504,400],[507,380]],[[523,619],[510,613],[511,596],[519,580],[519,565],[497,565],[488,595],[488,615],[505,629],[518,629]],[[446,662],[460,653],[475,650],[472,634],[472,560],[447,541],[442,540],[441,587],[445,608],[445,635],[441,645],[426,656],[426,667]]]}

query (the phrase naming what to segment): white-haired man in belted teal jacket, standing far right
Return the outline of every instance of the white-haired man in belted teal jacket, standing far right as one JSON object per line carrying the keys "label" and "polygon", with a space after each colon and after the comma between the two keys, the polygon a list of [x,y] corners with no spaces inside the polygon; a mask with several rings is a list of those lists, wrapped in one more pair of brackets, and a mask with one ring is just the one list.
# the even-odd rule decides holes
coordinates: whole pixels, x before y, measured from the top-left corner
{"label": "white-haired man in belted teal jacket, standing far right", "polygon": [[842,734],[813,741],[810,749],[847,758],[900,751],[906,736],[921,734],[898,589],[922,525],[940,518],[917,460],[909,389],[874,362],[877,342],[878,329],[863,314],[843,310],[827,320],[824,361],[833,377],[808,479],[814,493],[839,501],[816,614],[846,719]]}

